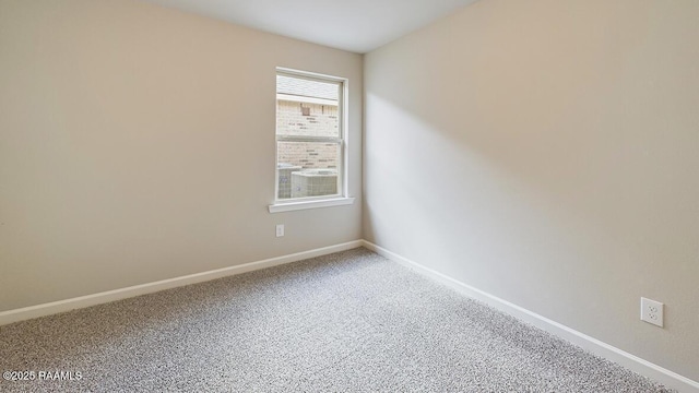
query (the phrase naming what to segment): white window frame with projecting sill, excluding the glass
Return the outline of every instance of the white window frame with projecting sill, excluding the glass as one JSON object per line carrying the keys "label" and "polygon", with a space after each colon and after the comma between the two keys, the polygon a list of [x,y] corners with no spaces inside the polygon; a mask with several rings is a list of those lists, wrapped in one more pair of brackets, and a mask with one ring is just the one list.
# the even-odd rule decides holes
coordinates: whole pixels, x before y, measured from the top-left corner
{"label": "white window frame with projecting sill, excluding the glass", "polygon": [[[288,212],[288,211],[297,211],[297,210],[306,210],[306,209],[317,209],[317,207],[330,207],[330,206],[339,206],[339,205],[347,205],[354,202],[354,198],[347,196],[348,181],[347,181],[347,171],[348,171],[348,159],[347,159],[347,121],[346,121],[346,112],[347,112],[347,79],[324,75],[313,72],[293,70],[287,68],[276,68],[276,75],[286,75],[291,78],[297,79],[307,79],[310,81],[321,81],[321,82],[332,82],[337,84],[337,88],[340,90],[337,95],[337,128],[339,128],[339,136],[337,138],[323,138],[323,136],[282,136],[280,138],[276,134],[276,121],[274,126],[274,203],[269,205],[270,213],[279,213],[279,212]],[[284,98],[284,94],[276,94],[276,84],[274,88],[275,100],[286,99]],[[312,100],[312,98],[310,99]],[[276,112],[274,114],[276,119]],[[280,141],[287,142],[329,142],[329,143],[337,143],[339,144],[339,168],[337,168],[337,193],[331,195],[318,195],[318,196],[305,196],[305,198],[289,198],[289,199],[279,199],[279,152],[277,145]]]}

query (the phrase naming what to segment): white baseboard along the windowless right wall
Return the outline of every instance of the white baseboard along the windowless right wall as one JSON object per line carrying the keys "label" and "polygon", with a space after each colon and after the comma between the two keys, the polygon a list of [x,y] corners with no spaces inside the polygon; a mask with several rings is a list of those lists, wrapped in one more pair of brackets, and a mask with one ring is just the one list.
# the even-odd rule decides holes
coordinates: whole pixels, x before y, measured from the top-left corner
{"label": "white baseboard along the windowless right wall", "polygon": [[689,378],[683,377],[648,360],[641,359],[638,356],[631,355],[609,344],[603,343],[594,337],[580,333],[556,321],[552,321],[545,317],[513,305],[507,300],[502,300],[496,296],[476,289],[442,273],[434,271],[429,267],[425,267],[414,261],[411,261],[375,243],[363,240],[363,245],[367,249],[380,255],[383,255],[404,266],[417,271],[418,273],[422,273],[428,277],[437,279],[438,282],[457,289],[458,291],[470,298],[481,300],[502,312],[516,317],[521,321],[532,324],[558,337],[567,340],[574,345],[589,350],[592,354],[609,359],[618,365],[626,367],[631,371],[638,372],[641,376],[645,376],[652,380],[663,383],[668,388],[676,389],[679,392],[699,393],[699,382],[697,381],[692,381]]}

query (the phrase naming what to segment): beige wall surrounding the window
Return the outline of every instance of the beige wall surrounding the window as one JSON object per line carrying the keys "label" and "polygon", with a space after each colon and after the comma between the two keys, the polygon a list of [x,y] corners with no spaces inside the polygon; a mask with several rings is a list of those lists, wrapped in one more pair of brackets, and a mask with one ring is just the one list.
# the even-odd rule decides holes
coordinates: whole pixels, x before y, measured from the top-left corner
{"label": "beige wall surrounding the window", "polygon": [[359,239],[357,202],[266,210],[277,66],[350,80],[360,196],[362,56],[135,1],[0,0],[0,311]]}

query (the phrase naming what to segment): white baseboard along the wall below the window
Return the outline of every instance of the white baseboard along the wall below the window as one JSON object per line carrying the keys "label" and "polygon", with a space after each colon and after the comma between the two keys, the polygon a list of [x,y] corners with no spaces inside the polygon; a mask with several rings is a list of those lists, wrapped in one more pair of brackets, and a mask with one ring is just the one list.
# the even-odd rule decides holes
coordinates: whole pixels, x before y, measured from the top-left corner
{"label": "white baseboard along the wall below the window", "polygon": [[296,262],[309,258],[325,255],[333,252],[350,250],[364,246],[363,240],[350,241],[346,243],[323,247],[310,251],[297,252],[288,255],[271,258],[262,261],[245,263],[229,267],[216,269],[209,272],[190,274],[181,277],[163,279],[154,283],[134,285],[127,288],[107,290],[99,294],[80,296],[72,299],[51,301],[44,305],[24,307],[21,309],[0,312],[0,326],[13,322],[24,321],[33,318],[50,315],[59,312],[70,311],[79,308],[102,305],[115,300],[126,299],[134,296],[152,294],[158,290],[170,289],[190,284],[206,282],[210,279],[226,277],[230,275],[247,273],[260,269],[276,266],[285,263]]}

